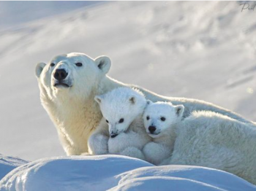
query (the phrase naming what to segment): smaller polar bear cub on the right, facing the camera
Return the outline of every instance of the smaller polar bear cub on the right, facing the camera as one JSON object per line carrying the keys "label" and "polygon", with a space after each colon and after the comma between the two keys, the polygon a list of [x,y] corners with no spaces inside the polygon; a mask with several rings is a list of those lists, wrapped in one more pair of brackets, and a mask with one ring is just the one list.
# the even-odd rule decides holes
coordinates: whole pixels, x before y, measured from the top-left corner
{"label": "smaller polar bear cub on the right, facing the camera", "polygon": [[180,122],[184,106],[173,106],[170,102],[147,101],[148,106],[143,114],[146,132],[153,139],[143,148],[143,154],[149,163],[159,165],[170,157],[175,142],[173,124]]}

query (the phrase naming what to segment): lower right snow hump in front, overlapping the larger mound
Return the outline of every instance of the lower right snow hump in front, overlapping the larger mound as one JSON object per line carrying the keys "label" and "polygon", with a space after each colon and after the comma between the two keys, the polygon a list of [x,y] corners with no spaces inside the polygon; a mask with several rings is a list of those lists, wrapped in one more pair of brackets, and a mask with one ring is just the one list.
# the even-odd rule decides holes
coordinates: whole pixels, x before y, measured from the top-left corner
{"label": "lower right snow hump in front, overlapping the larger mound", "polygon": [[[189,165],[166,165],[138,168],[120,174],[112,190],[256,190],[244,179],[225,171]],[[232,184],[230,184],[232,182]]]}

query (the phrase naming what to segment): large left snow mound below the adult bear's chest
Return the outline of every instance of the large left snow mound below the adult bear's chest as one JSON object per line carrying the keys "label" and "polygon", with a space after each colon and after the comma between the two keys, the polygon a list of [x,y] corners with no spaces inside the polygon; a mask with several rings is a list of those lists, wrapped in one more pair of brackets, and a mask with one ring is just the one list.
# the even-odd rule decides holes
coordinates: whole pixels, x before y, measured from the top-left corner
{"label": "large left snow mound below the adult bear's chest", "polygon": [[144,166],[152,165],[113,155],[42,159],[20,166],[5,176],[0,182],[0,190],[108,190],[118,184],[118,174]]}

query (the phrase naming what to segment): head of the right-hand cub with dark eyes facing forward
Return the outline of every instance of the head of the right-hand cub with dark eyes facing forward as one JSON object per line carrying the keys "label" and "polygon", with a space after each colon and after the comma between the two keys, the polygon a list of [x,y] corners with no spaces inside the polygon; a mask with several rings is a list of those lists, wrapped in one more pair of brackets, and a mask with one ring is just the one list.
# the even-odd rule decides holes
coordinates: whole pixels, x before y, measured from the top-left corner
{"label": "head of the right-hand cub with dark eyes facing forward", "polygon": [[173,106],[170,102],[147,101],[147,106],[143,114],[144,126],[146,132],[152,138],[165,135],[167,130],[174,124],[180,122],[184,113],[184,106]]}

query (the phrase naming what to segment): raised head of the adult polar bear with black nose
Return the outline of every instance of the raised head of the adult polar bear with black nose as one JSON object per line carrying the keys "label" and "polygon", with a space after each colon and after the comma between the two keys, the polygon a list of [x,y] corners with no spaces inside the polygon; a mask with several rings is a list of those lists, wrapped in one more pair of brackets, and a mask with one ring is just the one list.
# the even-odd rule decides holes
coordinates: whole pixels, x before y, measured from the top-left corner
{"label": "raised head of the adult polar bear with black nose", "polygon": [[83,53],[58,55],[48,64],[38,63],[36,75],[41,98],[68,101],[69,98],[88,98],[108,73],[111,61],[106,56],[96,59]]}

